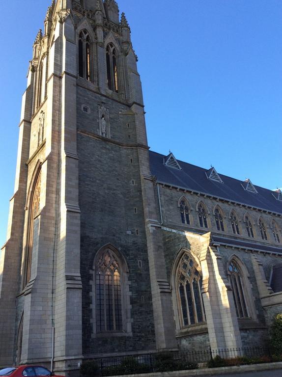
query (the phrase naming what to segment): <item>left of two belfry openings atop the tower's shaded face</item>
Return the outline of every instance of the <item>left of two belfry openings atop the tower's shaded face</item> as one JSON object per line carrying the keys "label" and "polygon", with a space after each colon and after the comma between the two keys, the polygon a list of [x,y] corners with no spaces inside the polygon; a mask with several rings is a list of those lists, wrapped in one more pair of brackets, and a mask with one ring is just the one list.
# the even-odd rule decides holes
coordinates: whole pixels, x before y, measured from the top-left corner
{"label": "left of two belfry openings atop the tower's shaded face", "polygon": [[79,34],[78,41],[78,66],[79,76],[90,81],[91,80],[91,53],[90,53],[90,37],[86,30],[82,30]]}

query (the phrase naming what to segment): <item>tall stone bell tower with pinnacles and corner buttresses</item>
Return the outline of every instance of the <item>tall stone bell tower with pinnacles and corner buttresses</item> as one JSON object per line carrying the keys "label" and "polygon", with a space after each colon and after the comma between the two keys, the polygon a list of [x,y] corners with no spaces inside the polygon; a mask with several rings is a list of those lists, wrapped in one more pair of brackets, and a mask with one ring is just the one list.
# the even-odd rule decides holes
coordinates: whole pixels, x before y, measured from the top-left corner
{"label": "tall stone bell tower with pinnacles and corner buttresses", "polygon": [[[53,1],[23,96],[0,365],[175,348],[161,242],[126,17],[114,0]],[[121,293],[101,311],[108,256]]]}

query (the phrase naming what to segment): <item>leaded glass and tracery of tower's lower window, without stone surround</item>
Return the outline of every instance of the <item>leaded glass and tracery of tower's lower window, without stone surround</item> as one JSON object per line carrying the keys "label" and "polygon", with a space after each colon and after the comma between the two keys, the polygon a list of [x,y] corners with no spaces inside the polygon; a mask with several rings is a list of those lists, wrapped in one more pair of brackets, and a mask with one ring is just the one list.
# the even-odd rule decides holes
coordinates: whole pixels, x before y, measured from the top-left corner
{"label": "leaded glass and tracery of tower's lower window, without stone surround", "polygon": [[112,250],[98,259],[95,275],[97,332],[122,331],[121,268]]}

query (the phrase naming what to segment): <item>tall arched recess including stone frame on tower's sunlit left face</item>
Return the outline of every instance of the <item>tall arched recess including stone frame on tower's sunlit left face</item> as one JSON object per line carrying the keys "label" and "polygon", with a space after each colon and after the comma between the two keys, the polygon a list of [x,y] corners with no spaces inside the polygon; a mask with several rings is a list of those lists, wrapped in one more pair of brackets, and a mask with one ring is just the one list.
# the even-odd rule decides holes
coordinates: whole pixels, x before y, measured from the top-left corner
{"label": "tall arched recess including stone frame on tower's sunlit left face", "polygon": [[24,288],[31,276],[31,261],[32,261],[32,246],[33,246],[33,231],[34,220],[40,212],[40,193],[41,193],[41,162],[38,161],[33,175],[31,183],[28,189],[28,196],[26,202],[26,208],[28,215],[26,217],[26,233],[24,239],[24,260],[23,260],[23,279],[22,287]]}

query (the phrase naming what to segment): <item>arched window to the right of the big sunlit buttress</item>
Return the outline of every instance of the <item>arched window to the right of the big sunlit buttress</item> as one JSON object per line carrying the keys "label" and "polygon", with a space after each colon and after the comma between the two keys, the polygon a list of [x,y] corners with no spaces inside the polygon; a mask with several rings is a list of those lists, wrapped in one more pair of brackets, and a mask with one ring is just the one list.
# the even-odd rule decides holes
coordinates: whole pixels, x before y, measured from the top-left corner
{"label": "arched window to the right of the big sunlit buttress", "polygon": [[233,254],[228,260],[226,270],[232,288],[237,318],[256,320],[254,295],[248,269],[241,259]]}

